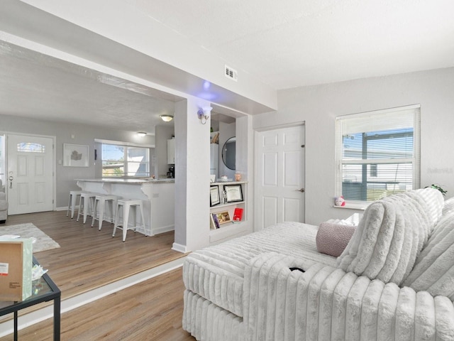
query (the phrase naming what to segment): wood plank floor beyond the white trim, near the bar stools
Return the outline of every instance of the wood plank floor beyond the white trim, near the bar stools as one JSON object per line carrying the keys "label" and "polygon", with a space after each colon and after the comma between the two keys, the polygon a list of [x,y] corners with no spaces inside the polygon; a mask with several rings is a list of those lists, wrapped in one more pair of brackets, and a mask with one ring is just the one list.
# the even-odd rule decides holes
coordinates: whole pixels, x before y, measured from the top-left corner
{"label": "wood plank floor beyond the white trim, near the bar stools", "polygon": [[[145,237],[128,231],[126,241],[112,237],[113,225],[104,222],[101,231],[66,217],[66,211],[10,215],[6,226],[32,222],[60,244],[60,248],[35,254],[36,259],[62,291],[62,299],[99,288],[178,259],[173,251],[174,232]],[[0,225],[0,234],[1,234]]]}

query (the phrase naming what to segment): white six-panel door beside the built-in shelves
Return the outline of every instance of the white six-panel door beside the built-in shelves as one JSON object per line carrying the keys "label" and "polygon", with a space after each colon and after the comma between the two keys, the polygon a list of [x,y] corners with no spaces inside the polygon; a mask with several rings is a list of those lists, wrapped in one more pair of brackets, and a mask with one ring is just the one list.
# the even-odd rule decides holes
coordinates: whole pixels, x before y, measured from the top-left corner
{"label": "white six-panel door beside the built-in shelves", "polygon": [[304,222],[304,125],[258,132],[256,229]]}

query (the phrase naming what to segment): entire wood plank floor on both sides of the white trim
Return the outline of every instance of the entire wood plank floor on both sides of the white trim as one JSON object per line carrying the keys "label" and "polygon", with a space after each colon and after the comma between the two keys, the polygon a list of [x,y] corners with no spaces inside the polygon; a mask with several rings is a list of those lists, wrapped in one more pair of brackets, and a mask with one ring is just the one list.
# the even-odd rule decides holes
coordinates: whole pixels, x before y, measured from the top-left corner
{"label": "entire wood plank floor on both sides of the white trim", "polygon": [[[62,300],[184,256],[171,249],[173,232],[145,237],[128,231],[121,242],[120,233],[111,237],[112,224],[104,222],[99,231],[91,221],[66,217],[66,211],[13,215],[6,225],[26,222],[60,244],[35,257],[49,270]],[[62,340],[194,340],[181,329],[183,290],[178,269],[71,310],[62,314]],[[51,340],[50,335],[52,320],[22,330],[19,339]],[[12,339],[0,338],[6,340]]]}

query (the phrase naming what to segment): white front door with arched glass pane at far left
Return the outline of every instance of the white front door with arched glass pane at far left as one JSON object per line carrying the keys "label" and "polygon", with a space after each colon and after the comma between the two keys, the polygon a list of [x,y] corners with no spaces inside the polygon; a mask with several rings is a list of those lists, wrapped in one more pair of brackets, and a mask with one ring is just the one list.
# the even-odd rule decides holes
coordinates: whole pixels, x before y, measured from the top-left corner
{"label": "white front door with arched glass pane at far left", "polygon": [[8,213],[53,210],[53,139],[40,136],[6,136]]}

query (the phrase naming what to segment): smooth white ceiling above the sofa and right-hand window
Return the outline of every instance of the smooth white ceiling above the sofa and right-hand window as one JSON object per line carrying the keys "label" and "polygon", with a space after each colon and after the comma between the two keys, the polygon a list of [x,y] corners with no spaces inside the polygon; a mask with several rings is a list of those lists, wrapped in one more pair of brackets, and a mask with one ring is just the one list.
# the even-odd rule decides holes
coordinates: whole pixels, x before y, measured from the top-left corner
{"label": "smooth white ceiling above the sofa and right-hand window", "polygon": [[454,65],[452,0],[126,0],[275,89]]}

